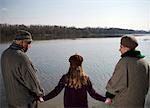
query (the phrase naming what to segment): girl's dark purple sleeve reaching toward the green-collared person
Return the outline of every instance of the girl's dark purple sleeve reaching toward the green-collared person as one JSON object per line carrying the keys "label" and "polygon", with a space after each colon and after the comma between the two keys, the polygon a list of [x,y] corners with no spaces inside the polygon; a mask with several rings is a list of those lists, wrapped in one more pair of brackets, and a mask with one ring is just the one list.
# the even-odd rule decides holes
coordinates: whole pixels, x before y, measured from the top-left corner
{"label": "girl's dark purple sleeve reaching toward the green-collared person", "polygon": [[98,94],[98,93],[94,90],[94,88],[93,88],[93,86],[92,86],[92,83],[91,83],[91,81],[90,81],[89,78],[88,78],[87,91],[88,91],[88,93],[90,94],[90,96],[91,96],[92,98],[94,98],[94,99],[96,99],[96,100],[99,100],[99,101],[105,102],[106,98],[103,97],[103,96],[101,96],[100,94]]}

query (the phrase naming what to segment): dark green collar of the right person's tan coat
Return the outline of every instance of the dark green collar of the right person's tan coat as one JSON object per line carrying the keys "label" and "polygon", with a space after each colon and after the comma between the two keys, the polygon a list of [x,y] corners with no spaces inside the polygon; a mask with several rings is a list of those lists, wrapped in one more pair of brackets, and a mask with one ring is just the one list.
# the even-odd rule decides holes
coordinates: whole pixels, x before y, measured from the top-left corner
{"label": "dark green collar of the right person's tan coat", "polygon": [[145,56],[141,54],[140,51],[130,50],[126,53],[122,54],[121,57],[136,57],[136,58],[144,58]]}

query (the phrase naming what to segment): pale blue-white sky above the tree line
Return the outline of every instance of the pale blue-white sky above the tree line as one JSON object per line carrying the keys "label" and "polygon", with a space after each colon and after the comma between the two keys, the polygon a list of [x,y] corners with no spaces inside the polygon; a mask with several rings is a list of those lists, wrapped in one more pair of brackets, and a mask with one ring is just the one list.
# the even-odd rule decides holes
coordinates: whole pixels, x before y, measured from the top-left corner
{"label": "pale blue-white sky above the tree line", "polygon": [[0,23],[150,30],[150,0],[0,0]]}

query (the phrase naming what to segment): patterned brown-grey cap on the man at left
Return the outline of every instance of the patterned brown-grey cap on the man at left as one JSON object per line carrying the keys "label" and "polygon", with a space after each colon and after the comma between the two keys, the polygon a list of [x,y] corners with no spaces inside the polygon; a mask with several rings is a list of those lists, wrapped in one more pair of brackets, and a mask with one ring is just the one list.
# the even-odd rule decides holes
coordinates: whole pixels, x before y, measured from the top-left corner
{"label": "patterned brown-grey cap on the man at left", "polygon": [[32,41],[31,33],[25,30],[18,30],[16,33],[15,40],[25,40],[25,41]]}

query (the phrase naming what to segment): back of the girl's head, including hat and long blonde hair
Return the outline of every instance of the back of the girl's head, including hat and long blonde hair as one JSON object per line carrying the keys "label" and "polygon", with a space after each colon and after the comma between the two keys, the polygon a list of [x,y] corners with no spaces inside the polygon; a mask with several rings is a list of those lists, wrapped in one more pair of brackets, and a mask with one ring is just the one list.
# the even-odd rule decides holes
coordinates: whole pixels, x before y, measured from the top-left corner
{"label": "back of the girl's head, including hat and long blonde hair", "polygon": [[87,84],[87,75],[82,68],[83,57],[75,54],[69,58],[70,68],[66,74],[66,85],[71,88],[81,88]]}

